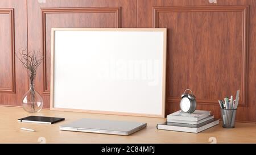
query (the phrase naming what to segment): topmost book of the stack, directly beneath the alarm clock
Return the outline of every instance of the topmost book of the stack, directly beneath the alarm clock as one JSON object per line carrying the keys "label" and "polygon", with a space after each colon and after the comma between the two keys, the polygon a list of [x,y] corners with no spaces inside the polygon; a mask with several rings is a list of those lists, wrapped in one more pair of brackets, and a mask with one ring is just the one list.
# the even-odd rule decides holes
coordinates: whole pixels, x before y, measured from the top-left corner
{"label": "topmost book of the stack, directly beneath the alarm clock", "polygon": [[170,115],[167,115],[168,120],[185,120],[185,121],[199,121],[207,118],[210,115],[210,111],[195,110],[192,114],[183,112],[181,110],[176,111]]}

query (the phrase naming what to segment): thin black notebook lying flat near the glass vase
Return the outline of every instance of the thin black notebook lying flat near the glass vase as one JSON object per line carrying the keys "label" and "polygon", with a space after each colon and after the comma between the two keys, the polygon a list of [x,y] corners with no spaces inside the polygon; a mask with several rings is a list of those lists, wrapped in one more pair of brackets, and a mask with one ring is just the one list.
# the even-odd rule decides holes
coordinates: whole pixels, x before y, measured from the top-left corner
{"label": "thin black notebook lying flat near the glass vase", "polygon": [[65,120],[64,118],[52,118],[44,116],[28,116],[26,118],[18,119],[19,122],[29,122],[29,123],[43,123],[43,124],[53,124]]}

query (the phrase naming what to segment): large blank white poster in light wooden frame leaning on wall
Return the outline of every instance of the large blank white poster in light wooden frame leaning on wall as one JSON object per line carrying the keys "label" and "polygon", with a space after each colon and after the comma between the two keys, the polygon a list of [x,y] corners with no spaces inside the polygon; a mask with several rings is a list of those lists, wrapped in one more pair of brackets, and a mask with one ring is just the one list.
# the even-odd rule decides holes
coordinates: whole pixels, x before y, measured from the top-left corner
{"label": "large blank white poster in light wooden frame leaning on wall", "polygon": [[165,28],[53,28],[51,109],[164,117]]}

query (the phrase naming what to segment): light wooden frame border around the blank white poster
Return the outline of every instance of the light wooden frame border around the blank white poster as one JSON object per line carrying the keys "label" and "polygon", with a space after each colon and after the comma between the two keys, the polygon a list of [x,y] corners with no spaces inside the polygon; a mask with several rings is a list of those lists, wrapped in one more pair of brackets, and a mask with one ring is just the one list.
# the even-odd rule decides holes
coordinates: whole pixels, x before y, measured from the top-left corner
{"label": "light wooden frame border around the blank white poster", "polygon": [[[115,111],[98,111],[98,110],[80,110],[72,108],[55,108],[53,106],[53,85],[54,85],[54,49],[55,49],[55,31],[148,31],[163,32],[163,83],[162,83],[162,114],[141,114],[132,112],[115,112]],[[110,115],[127,115],[127,116],[145,116],[153,118],[165,118],[166,108],[166,54],[167,54],[167,28],[52,28],[51,29],[51,94],[50,94],[50,110],[70,111],[70,112],[87,112],[94,114],[110,114]]]}

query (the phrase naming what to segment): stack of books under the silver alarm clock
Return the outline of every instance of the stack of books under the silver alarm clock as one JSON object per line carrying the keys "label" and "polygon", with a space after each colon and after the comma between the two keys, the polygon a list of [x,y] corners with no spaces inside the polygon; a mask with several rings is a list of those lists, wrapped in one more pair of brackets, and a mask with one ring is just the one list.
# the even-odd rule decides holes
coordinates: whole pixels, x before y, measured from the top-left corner
{"label": "stack of books under the silver alarm clock", "polygon": [[167,115],[167,122],[158,124],[156,128],[199,133],[219,123],[219,119],[214,119],[210,111],[196,110],[193,114],[188,114],[180,110]]}

